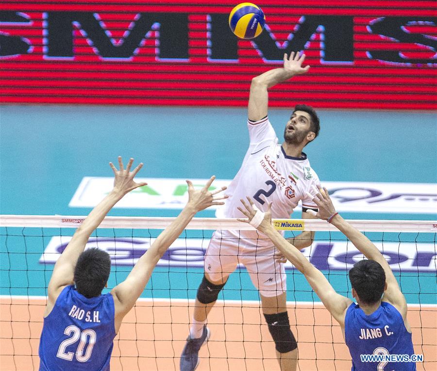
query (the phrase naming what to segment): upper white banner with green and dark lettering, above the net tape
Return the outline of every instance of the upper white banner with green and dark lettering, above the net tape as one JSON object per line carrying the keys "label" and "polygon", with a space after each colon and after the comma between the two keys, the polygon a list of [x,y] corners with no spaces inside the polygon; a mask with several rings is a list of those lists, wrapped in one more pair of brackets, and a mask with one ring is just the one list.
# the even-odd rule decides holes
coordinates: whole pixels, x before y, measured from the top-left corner
{"label": "upper white banner with green and dark lettering, above the net tape", "polygon": [[[146,180],[147,186],[127,194],[115,208],[182,209],[185,206],[188,200],[185,179],[137,179]],[[195,187],[202,187],[207,179],[192,181]],[[230,179],[216,179],[214,187],[228,186],[230,182]],[[69,206],[93,208],[111,191],[113,183],[112,177],[84,177]],[[322,185],[328,189],[337,211],[436,214],[437,210],[437,184],[433,183],[324,181]]]}

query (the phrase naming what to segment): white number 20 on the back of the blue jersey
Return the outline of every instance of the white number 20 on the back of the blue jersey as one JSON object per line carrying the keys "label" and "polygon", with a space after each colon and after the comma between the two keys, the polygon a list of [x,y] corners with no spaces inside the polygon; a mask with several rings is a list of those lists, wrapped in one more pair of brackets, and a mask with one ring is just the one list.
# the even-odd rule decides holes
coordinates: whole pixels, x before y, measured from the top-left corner
{"label": "white number 20 on the back of the blue jersey", "polygon": [[[57,357],[66,359],[67,361],[71,361],[73,359],[73,352],[66,352],[65,349],[68,345],[74,344],[79,338],[81,339],[77,350],[76,350],[76,359],[79,362],[86,362],[89,357],[91,356],[91,352],[93,351],[93,346],[96,342],[96,332],[94,330],[91,330],[90,328],[82,331],[77,326],[71,325],[66,327],[64,330],[64,334],[70,336],[73,334],[71,338],[65,339],[61,344],[59,344],[58,353],[56,354]],[[86,340],[88,339],[88,346],[85,348]]]}

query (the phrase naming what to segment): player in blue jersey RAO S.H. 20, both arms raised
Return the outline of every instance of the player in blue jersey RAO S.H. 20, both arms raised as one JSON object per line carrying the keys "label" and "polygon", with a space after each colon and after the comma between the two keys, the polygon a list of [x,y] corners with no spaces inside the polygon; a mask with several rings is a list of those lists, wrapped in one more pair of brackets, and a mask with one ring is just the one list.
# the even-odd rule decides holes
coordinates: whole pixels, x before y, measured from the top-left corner
{"label": "player in blue jersey RAO S.H. 20, both arms raised", "polygon": [[146,287],[158,260],[196,212],[212,205],[222,205],[223,202],[218,200],[227,197],[215,196],[225,187],[208,191],[215,177],[211,177],[202,190],[194,190],[187,180],[189,198],[185,208],[138,259],[127,278],[111,292],[102,295],[111,269],[110,257],[97,248],[86,251],[84,248],[109,210],[125,194],[147,184],[134,181],[143,164],[131,172],[133,161],[130,159],[125,169],[121,157],[118,157],[119,170],[110,162],[115,174],[113,190],[77,228],[54,266],[39,344],[40,370],[109,370],[113,339],[123,317]]}

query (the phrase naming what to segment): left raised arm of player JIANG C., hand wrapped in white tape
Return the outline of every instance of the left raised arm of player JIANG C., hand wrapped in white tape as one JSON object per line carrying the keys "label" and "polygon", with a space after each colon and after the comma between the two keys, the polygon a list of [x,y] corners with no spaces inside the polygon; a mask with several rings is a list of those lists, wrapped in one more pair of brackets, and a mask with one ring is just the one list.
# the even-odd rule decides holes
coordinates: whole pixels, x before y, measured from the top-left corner
{"label": "left raised arm of player JIANG C., hand wrapped in white tape", "polygon": [[[255,216],[256,210],[253,209],[253,202],[247,197],[249,203],[241,200],[244,208],[238,208],[247,218],[238,219],[241,222],[250,223]],[[342,327],[344,327],[344,317],[348,306],[352,301],[345,296],[338,294],[331,286],[326,277],[312,265],[295,246],[286,239],[271,224],[271,203],[266,211],[264,218],[259,226],[256,227],[260,232],[269,237],[271,242],[281,251],[282,254],[305,276],[306,280],[319,296],[323,305],[329,310],[331,315]]]}

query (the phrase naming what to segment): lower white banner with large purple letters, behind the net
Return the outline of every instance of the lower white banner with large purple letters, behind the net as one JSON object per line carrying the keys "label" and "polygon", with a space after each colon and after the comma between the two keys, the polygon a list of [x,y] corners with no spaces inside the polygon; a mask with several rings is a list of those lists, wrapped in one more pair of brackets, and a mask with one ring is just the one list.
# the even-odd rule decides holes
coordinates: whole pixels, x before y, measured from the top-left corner
{"label": "lower white banner with large purple letters, behind the net", "polygon": [[[67,247],[71,237],[54,236],[44,254],[42,264],[54,264]],[[91,237],[86,248],[99,247],[110,256],[113,265],[133,266],[147,251],[154,238],[139,237]],[[159,260],[158,266],[203,268],[203,260],[209,239],[179,238]],[[433,242],[375,242],[393,271],[435,272],[436,251]],[[303,255],[320,270],[347,271],[363,259],[363,255],[347,241],[315,241],[311,248],[303,249]],[[295,269],[286,262],[286,269]]]}

